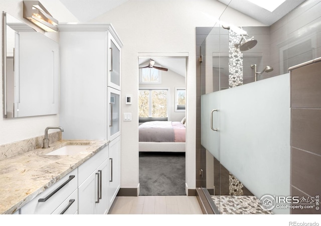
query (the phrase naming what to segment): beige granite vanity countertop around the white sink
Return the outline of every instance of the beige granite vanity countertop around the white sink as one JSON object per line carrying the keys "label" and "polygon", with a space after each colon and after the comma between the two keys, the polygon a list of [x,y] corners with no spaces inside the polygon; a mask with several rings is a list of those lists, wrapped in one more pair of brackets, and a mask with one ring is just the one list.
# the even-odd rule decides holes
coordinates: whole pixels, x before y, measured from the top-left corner
{"label": "beige granite vanity countertop around the white sink", "polygon": [[[0,213],[12,214],[102,150],[107,141],[60,140],[0,161]],[[46,155],[65,145],[90,145],[76,155]]]}

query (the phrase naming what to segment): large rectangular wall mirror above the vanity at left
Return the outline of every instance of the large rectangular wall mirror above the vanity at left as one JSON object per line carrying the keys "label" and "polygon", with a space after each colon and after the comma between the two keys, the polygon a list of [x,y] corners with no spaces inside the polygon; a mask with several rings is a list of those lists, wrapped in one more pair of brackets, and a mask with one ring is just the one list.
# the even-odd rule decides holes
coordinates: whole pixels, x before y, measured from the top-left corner
{"label": "large rectangular wall mirror above the vanity at left", "polygon": [[59,111],[59,44],[3,12],[4,118]]}

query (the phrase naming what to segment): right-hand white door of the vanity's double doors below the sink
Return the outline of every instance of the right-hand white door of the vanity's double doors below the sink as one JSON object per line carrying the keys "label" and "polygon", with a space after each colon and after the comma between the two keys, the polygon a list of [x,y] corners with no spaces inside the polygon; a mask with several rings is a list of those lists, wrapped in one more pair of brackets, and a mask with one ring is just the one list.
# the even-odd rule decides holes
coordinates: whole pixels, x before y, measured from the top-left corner
{"label": "right-hand white door of the vanity's double doors below the sink", "polygon": [[108,194],[107,186],[109,180],[109,159],[104,161],[97,169],[99,174],[99,193],[98,193],[98,202],[95,204],[95,213],[96,214],[105,214],[108,211]]}

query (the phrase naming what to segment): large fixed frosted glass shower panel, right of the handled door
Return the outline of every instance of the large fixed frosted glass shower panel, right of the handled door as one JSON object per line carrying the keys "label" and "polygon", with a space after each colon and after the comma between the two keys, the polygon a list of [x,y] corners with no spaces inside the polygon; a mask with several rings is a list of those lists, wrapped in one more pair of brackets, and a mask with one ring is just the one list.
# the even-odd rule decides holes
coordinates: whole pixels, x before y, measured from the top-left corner
{"label": "large fixed frosted glass shower panel, right of the handled door", "polygon": [[220,163],[257,198],[290,195],[289,74],[220,92]]}

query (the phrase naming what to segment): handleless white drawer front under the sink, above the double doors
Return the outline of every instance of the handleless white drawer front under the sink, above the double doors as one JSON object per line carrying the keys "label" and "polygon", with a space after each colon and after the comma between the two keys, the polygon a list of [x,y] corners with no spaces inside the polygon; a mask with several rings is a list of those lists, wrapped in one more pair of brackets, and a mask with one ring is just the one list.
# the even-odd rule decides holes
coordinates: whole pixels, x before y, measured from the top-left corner
{"label": "handleless white drawer front under the sink, above the double doors", "polygon": [[108,146],[104,147],[78,167],[78,185],[81,185],[108,158]]}

